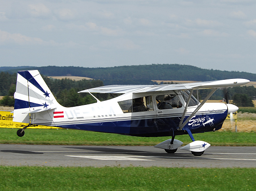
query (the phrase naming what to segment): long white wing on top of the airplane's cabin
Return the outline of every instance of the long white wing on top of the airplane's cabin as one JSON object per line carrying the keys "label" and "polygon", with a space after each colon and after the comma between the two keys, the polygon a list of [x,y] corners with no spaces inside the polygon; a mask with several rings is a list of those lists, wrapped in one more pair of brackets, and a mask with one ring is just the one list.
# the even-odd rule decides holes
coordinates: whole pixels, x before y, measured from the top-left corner
{"label": "long white wing on top of the airplane's cabin", "polygon": [[161,84],[161,85],[110,85],[95,87],[88,90],[79,91],[78,93],[146,93],[146,92],[164,92],[173,90],[191,90],[191,89],[207,89],[219,87],[233,87],[247,84],[250,80],[247,79],[225,79],[209,82],[194,82],[183,84]]}

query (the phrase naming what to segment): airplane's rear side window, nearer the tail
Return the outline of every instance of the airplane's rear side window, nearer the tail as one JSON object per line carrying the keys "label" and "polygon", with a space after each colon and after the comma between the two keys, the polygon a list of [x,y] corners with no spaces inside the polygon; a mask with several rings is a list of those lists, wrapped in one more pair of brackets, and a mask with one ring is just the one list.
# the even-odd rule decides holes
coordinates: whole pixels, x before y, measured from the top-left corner
{"label": "airplane's rear side window, nearer the tail", "polygon": [[132,100],[118,102],[124,113],[153,111],[152,96],[139,97]]}

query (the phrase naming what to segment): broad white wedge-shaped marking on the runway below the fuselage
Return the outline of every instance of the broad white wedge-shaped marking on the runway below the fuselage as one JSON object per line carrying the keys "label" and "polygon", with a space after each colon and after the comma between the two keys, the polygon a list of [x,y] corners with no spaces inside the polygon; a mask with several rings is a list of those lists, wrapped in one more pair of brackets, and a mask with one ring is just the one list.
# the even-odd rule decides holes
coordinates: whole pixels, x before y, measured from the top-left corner
{"label": "broad white wedge-shaped marking on the runway below the fuselage", "polygon": [[[154,161],[150,159],[134,158],[134,156],[79,156],[79,155],[66,155],[72,157],[80,157],[87,159],[96,159],[101,161]],[[148,156],[137,156],[137,157],[148,157]]]}

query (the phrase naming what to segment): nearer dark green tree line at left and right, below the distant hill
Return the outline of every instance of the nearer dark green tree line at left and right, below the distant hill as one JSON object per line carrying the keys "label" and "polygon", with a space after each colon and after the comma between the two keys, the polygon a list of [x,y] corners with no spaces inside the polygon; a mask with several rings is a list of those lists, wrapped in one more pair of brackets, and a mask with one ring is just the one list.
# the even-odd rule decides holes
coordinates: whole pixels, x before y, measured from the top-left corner
{"label": "nearer dark green tree line at left and right, below the distant hill", "polygon": [[[44,81],[49,86],[53,95],[57,101],[65,107],[72,107],[84,104],[91,104],[96,102],[96,100],[88,93],[78,94],[78,91],[84,89],[89,89],[93,87],[103,86],[102,80],[80,80],[75,81],[68,78],[65,79],[53,79],[42,75]],[[0,73],[0,95],[4,96],[0,100],[0,104],[4,106],[13,106],[14,99],[13,94],[16,89],[16,78],[15,73]],[[132,81],[131,81],[132,82]],[[128,82],[127,82],[128,83]],[[132,83],[128,83],[132,84]],[[139,83],[142,84],[142,83]],[[203,100],[204,97],[211,90],[204,89],[199,90],[199,100]],[[252,100],[256,97],[256,88],[253,86],[243,86],[243,87],[230,87],[227,88],[229,100],[234,100],[234,104],[237,106],[248,106],[253,107]],[[111,95],[108,94],[95,94],[99,100],[110,99]],[[197,92],[194,91],[194,96],[197,98]],[[210,98],[211,100],[222,100],[225,98],[223,89],[218,89]],[[249,103],[250,102],[250,103]],[[245,104],[247,103],[247,104]]]}

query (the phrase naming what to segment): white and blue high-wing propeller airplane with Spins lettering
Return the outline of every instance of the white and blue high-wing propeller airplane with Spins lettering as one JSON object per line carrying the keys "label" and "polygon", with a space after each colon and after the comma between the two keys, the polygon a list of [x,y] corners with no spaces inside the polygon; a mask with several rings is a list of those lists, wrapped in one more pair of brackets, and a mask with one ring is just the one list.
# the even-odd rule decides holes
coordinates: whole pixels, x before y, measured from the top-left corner
{"label": "white and blue high-wing propeller airplane with Spins lettering", "polygon": [[[17,131],[20,137],[27,127],[38,125],[139,137],[169,136],[171,139],[154,146],[168,153],[175,153],[183,144],[175,139],[177,135],[189,135],[192,142],[180,149],[201,156],[210,144],[195,140],[193,134],[220,130],[227,115],[238,110],[233,104],[206,101],[218,88],[248,82],[237,78],[184,84],[95,87],[78,93],[89,93],[97,103],[67,108],[57,102],[38,70],[18,71],[13,121],[28,123]],[[193,91],[199,89],[211,89],[202,103],[193,96]],[[119,96],[100,101],[92,93]]]}

